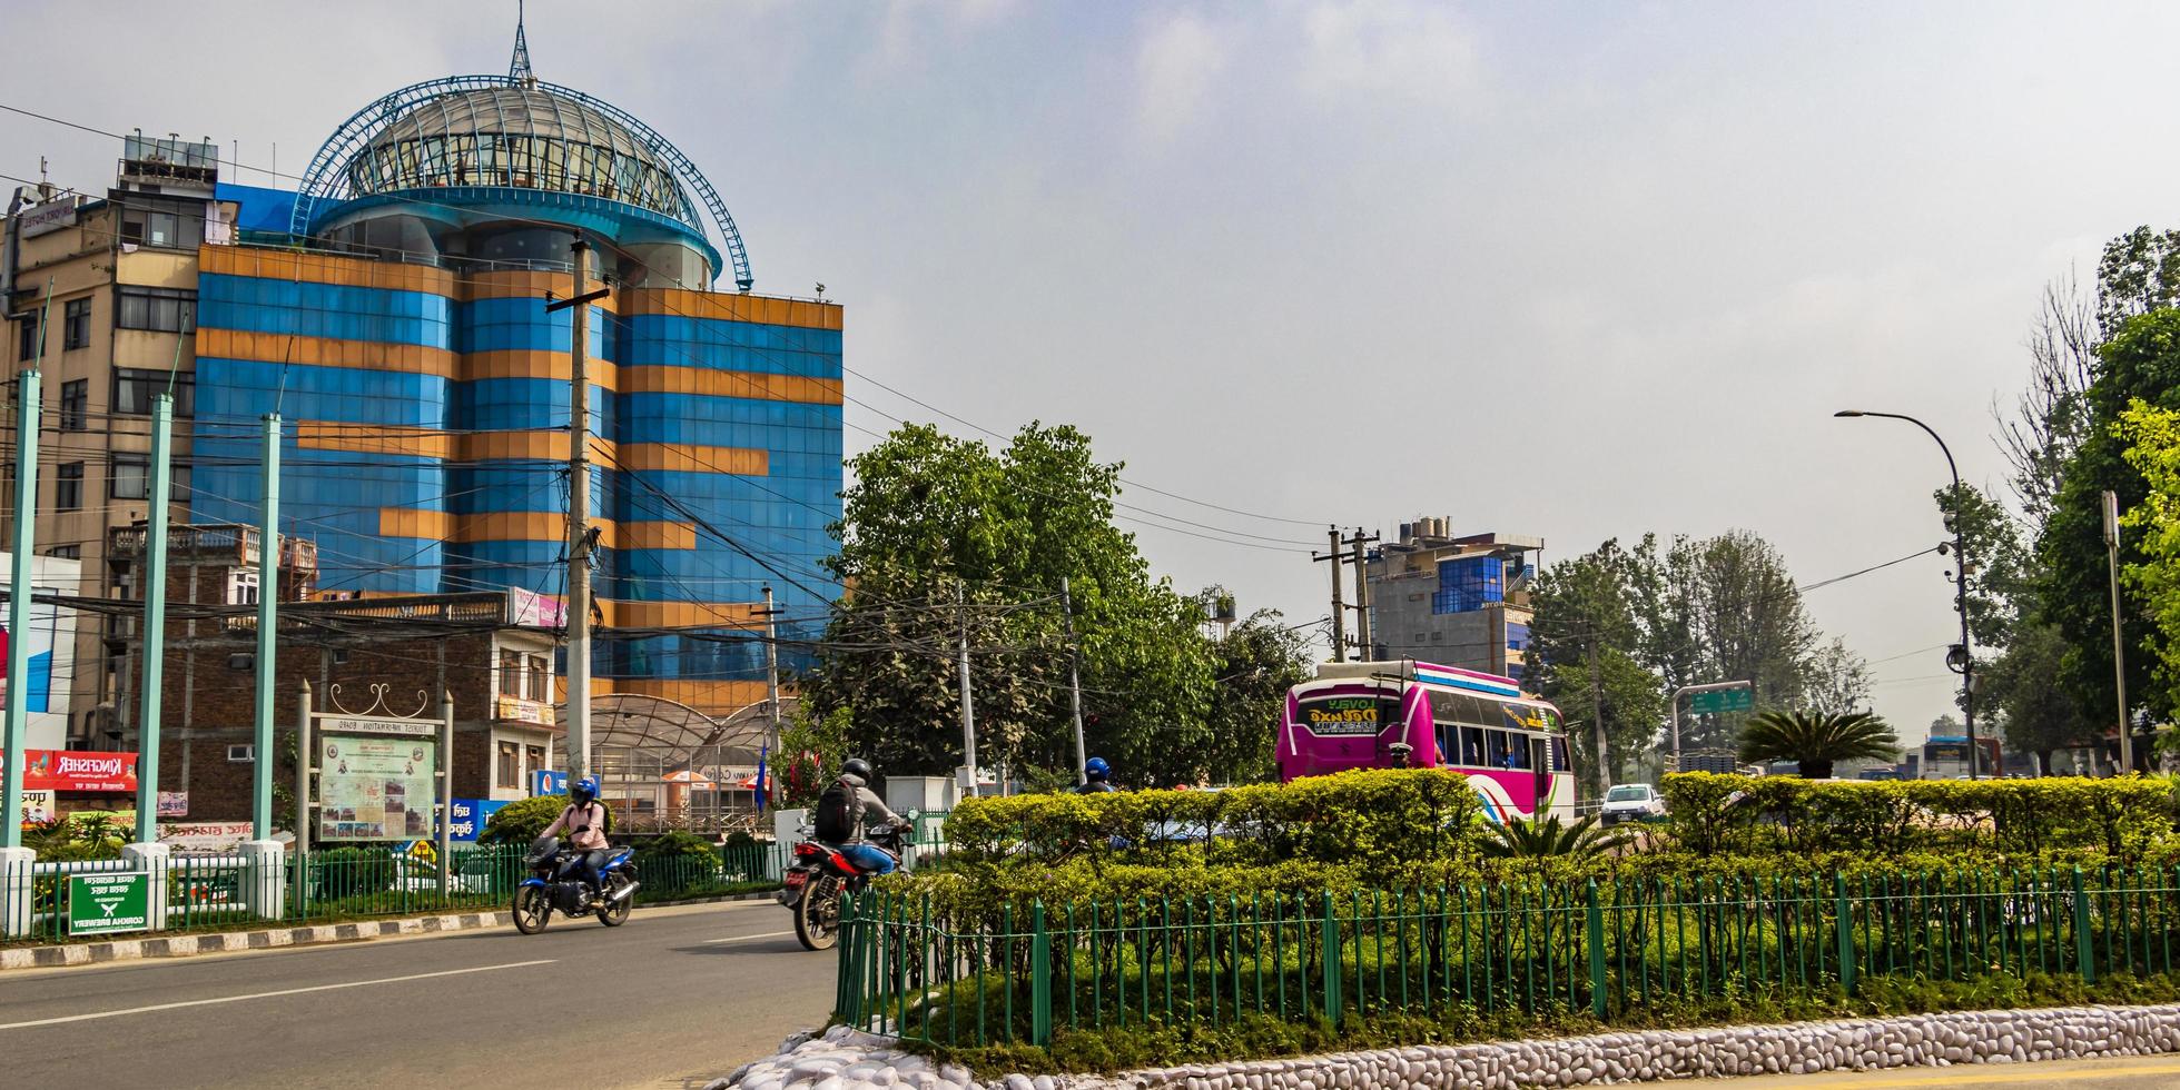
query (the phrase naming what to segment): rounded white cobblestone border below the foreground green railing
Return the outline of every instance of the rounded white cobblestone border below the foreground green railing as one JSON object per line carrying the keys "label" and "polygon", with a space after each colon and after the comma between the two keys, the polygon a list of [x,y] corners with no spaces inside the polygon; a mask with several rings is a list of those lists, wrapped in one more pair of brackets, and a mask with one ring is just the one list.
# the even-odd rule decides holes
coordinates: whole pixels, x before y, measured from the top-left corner
{"label": "rounded white cobblestone border below the foreground green railing", "polygon": [[1833,1022],[1657,1029],[1491,1044],[1428,1044],[1293,1059],[1192,1064],[1125,1075],[977,1081],[957,1066],[835,1027],[706,1090],[1367,1090],[1539,1088],[1735,1075],[1812,1075],[1951,1064],[2025,1064],[2180,1051],[2180,1005],[2049,1007],[1844,1018]]}

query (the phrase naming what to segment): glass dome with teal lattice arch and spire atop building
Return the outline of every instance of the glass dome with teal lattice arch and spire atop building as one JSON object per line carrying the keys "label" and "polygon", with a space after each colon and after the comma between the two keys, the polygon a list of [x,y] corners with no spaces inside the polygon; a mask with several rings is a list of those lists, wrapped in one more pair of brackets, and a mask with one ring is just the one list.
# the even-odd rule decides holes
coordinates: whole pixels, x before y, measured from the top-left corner
{"label": "glass dome with teal lattice arch and spire atop building", "polygon": [[724,249],[735,283],[752,283],[741,233],[695,164],[628,111],[532,76],[521,28],[506,76],[414,83],[334,131],[288,233],[316,238],[388,205],[445,222],[552,220],[619,242],[680,235],[713,270]]}

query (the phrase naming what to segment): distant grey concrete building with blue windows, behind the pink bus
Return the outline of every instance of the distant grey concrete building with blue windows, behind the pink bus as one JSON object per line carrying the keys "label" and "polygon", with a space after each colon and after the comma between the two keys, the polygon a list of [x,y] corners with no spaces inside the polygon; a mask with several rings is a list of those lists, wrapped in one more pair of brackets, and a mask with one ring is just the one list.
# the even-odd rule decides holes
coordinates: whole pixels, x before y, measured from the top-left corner
{"label": "distant grey concrete building with blue windows, behind the pink bus", "polygon": [[1522,678],[1528,580],[1543,538],[1452,536],[1450,519],[1400,523],[1369,554],[1371,658],[1421,658]]}

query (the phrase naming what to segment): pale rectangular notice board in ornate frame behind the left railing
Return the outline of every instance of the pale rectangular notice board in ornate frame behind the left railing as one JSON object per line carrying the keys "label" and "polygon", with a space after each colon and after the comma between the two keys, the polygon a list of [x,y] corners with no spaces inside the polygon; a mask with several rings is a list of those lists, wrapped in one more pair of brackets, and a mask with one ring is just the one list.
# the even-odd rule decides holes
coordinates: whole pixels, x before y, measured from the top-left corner
{"label": "pale rectangular notice board in ornate frame behind the left railing", "polygon": [[318,739],[318,839],[432,835],[438,741],[325,735]]}

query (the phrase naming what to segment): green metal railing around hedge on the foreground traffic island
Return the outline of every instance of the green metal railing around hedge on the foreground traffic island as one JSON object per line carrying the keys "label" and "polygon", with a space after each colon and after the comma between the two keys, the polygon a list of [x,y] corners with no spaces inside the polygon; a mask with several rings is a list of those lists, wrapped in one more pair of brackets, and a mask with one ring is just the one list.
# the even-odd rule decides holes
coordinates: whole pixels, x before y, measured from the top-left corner
{"label": "green metal railing around hedge on the foreground traffic island", "polygon": [[2171,972],[2180,872],[1504,883],[1038,903],[990,920],[874,892],[841,935],[835,1016],[946,1046],[1448,1005],[1613,1022],[1670,996],[1851,994],[1868,977]]}

